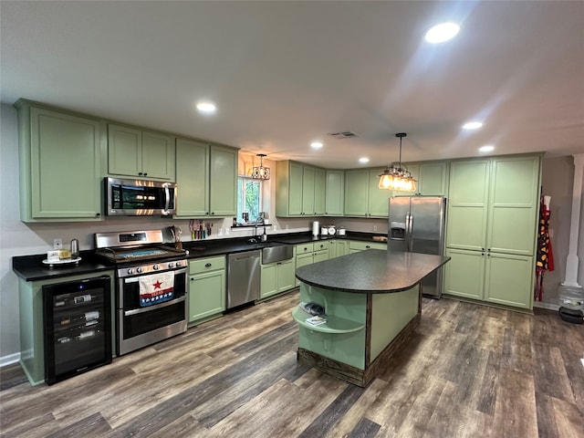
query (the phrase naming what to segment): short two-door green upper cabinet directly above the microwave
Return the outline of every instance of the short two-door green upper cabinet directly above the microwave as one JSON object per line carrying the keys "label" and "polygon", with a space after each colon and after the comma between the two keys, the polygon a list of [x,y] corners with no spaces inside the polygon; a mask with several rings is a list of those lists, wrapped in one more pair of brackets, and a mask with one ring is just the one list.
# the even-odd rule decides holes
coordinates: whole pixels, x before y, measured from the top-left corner
{"label": "short two-door green upper cabinet directly above the microwave", "polygon": [[108,173],[174,181],[174,138],[158,132],[108,125]]}

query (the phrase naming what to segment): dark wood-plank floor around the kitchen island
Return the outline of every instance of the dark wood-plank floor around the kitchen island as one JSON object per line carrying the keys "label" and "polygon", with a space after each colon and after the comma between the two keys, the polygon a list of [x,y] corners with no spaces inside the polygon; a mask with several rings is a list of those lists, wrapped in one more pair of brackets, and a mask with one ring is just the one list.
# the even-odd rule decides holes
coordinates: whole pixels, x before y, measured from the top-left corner
{"label": "dark wood-plank floor around the kitchen island", "polygon": [[365,388],[297,363],[297,292],[53,386],[0,370],[3,437],[584,437],[584,326],[425,299]]}

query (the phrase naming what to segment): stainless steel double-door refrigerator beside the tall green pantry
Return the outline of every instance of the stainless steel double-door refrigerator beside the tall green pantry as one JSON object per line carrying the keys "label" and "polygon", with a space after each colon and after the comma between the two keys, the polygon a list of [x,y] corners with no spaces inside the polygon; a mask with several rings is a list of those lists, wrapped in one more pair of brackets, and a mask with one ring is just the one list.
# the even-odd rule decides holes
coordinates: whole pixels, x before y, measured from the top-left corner
{"label": "stainless steel double-door refrigerator beside the tall green pantry", "polygon": [[[443,255],[446,198],[443,196],[391,196],[388,227],[390,252]],[[443,267],[422,280],[422,294],[442,297]]]}

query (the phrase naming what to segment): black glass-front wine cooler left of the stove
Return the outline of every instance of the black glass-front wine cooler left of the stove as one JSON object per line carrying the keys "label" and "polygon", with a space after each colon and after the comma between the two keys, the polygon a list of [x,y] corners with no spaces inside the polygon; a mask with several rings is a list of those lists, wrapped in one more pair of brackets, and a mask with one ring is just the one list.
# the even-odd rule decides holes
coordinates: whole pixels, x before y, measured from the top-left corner
{"label": "black glass-front wine cooler left of the stove", "polygon": [[110,276],[43,286],[45,381],[111,363]]}

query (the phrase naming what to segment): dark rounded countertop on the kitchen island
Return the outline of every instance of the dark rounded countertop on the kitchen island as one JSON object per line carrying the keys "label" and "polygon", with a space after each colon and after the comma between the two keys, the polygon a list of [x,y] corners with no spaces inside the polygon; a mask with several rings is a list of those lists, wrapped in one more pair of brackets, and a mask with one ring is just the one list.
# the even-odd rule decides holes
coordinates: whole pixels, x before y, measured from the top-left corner
{"label": "dark rounded countertop on the kitchen island", "polygon": [[407,290],[443,266],[450,257],[389,253],[370,249],[297,268],[297,278],[315,287],[355,293]]}

